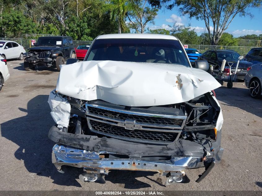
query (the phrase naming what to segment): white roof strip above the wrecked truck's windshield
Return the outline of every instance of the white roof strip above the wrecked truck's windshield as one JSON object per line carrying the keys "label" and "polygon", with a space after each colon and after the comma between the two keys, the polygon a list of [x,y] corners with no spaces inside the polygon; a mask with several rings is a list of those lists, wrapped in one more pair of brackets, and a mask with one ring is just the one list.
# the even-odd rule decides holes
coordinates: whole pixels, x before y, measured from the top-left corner
{"label": "white roof strip above the wrecked truck's windshield", "polygon": [[161,35],[161,34],[150,34],[150,33],[116,33],[116,34],[106,34],[96,37],[96,39],[171,39],[178,40],[176,37],[171,35]]}

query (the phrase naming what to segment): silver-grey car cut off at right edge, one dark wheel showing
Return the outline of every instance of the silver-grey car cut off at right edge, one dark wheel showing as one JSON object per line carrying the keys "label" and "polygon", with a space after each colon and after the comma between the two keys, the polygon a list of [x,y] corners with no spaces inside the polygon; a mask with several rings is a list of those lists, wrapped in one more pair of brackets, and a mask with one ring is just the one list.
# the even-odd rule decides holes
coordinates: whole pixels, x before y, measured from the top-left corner
{"label": "silver-grey car cut off at right edge, one dark wheel showing", "polygon": [[255,64],[247,70],[245,85],[249,89],[249,94],[252,98],[260,98],[262,93],[262,63]]}

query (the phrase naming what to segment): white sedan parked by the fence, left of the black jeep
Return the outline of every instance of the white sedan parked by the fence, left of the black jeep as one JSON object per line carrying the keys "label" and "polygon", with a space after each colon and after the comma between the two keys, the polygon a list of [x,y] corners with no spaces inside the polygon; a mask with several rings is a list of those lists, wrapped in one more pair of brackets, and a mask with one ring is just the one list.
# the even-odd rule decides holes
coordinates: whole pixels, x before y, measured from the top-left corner
{"label": "white sedan parked by the fence, left of the black jeep", "polygon": [[23,60],[24,47],[15,41],[0,40],[0,54],[4,59]]}

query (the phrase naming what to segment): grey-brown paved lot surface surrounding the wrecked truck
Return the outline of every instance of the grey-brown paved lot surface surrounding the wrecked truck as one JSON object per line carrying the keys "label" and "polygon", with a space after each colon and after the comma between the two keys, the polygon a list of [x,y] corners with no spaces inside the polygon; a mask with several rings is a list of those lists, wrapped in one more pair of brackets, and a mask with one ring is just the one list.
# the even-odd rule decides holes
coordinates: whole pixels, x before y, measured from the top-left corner
{"label": "grey-brown paved lot surface surrounding the wrecked truck", "polygon": [[84,183],[82,169],[57,172],[51,163],[54,124],[47,103],[56,87],[56,69],[27,72],[23,61],[8,61],[10,79],[0,92],[0,190],[262,190],[262,99],[252,99],[244,83],[215,90],[223,110],[221,163],[201,182],[203,168],[187,170],[188,184],[165,186],[151,172],[112,171],[106,184]]}

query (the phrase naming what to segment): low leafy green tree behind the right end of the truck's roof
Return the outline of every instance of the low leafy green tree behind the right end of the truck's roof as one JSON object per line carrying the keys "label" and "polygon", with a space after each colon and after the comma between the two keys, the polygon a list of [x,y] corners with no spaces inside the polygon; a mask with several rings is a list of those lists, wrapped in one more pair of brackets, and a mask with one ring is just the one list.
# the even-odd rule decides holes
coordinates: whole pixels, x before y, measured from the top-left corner
{"label": "low leafy green tree behind the right end of the truck's roof", "polygon": [[190,27],[190,24],[184,26],[175,23],[170,34],[177,37],[182,44],[199,44],[198,34]]}

